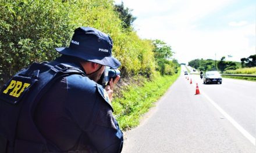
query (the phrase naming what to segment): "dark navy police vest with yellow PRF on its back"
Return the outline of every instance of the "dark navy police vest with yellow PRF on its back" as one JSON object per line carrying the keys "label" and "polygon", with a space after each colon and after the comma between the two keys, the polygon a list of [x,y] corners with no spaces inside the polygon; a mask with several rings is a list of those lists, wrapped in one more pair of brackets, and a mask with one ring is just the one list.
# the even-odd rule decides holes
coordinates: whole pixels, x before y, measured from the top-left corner
{"label": "dark navy police vest with yellow PRF on its back", "polygon": [[[0,152],[49,152],[47,141],[33,121],[35,108],[51,85],[72,74],[85,76],[70,63],[33,63],[12,77],[0,92]],[[22,108],[22,109],[21,109]],[[17,122],[21,110],[29,126],[26,138],[17,139]],[[81,151],[83,152],[83,151]]]}

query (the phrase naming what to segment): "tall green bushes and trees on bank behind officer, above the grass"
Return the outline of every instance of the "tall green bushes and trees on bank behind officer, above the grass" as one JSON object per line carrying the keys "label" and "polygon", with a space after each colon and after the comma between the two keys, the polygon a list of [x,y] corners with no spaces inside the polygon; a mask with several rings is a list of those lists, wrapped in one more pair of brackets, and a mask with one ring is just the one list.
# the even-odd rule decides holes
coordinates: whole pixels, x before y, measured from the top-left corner
{"label": "tall green bushes and trees on bank behind officer, above the grass", "polygon": [[112,0],[0,0],[0,86],[31,63],[58,57],[55,48],[69,46],[74,29],[81,26],[111,36],[122,77],[177,72],[170,46],[139,38],[131,11]]}

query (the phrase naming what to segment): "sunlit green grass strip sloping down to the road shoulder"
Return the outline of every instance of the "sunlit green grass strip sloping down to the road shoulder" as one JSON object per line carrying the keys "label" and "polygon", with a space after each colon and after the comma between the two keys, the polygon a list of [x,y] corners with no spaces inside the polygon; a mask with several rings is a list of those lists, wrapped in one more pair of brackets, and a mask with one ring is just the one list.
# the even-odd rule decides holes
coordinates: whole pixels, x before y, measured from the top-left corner
{"label": "sunlit green grass strip sloping down to the road shoulder", "polygon": [[154,106],[154,103],[169,89],[180,75],[155,74],[150,81],[145,78],[138,78],[133,83],[122,89],[122,96],[114,98],[112,107],[114,115],[118,120],[119,127],[127,130],[140,123],[141,116]]}

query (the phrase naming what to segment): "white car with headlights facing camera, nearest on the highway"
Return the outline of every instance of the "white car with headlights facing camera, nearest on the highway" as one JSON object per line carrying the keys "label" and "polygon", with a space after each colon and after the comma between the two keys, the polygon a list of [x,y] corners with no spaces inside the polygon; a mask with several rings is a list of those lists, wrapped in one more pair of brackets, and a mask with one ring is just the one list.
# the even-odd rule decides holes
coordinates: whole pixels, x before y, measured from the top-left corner
{"label": "white car with headlights facing camera, nearest on the highway", "polygon": [[222,83],[221,74],[218,71],[207,71],[204,74],[204,84],[207,83]]}

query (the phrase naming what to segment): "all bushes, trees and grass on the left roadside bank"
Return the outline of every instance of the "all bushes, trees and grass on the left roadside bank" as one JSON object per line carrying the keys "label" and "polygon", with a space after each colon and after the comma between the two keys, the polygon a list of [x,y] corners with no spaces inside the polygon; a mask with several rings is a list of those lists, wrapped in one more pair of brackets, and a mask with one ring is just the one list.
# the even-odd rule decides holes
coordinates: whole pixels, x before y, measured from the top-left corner
{"label": "all bushes, trees and grass on the left roadside bank", "polygon": [[136,126],[175,81],[180,65],[168,44],[138,37],[131,11],[112,0],[0,0],[0,88],[33,62],[58,57],[55,48],[69,46],[76,28],[94,27],[111,36],[112,54],[122,63],[115,115],[123,129]]}

